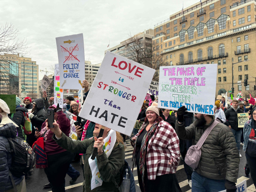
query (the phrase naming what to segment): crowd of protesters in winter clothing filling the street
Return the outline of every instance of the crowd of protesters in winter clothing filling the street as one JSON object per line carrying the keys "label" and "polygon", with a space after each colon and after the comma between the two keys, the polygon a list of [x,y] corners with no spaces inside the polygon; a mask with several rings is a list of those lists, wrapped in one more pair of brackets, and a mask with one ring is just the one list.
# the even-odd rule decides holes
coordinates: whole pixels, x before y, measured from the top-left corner
{"label": "crowd of protesters in winter clothing filling the street", "polygon": [[[85,88],[85,101],[90,91],[89,83],[84,80],[82,85]],[[0,192],[26,192],[25,177],[33,174],[31,169],[25,176],[11,175],[12,156],[8,138],[15,137],[24,139],[35,149],[34,169],[43,168],[48,178],[44,188],[65,192],[66,174],[71,177],[69,183],[74,184],[80,172],[72,167],[71,162],[75,155],[80,154],[84,192],[119,192],[125,166],[126,136],[115,132],[115,145],[111,154],[106,155],[104,139],[111,128],[79,117],[81,107],[72,96],[66,97],[63,108],[59,104],[54,105],[53,97],[48,98],[46,92],[43,92],[43,99],[26,97],[21,101],[16,97],[15,113],[10,113],[5,101],[0,99]],[[54,128],[48,125],[48,109],[54,111]],[[69,137],[70,117],[67,112],[77,116],[77,140]],[[238,113],[249,113],[250,120],[244,128],[238,125]],[[30,134],[24,132],[24,114],[28,114],[31,121]],[[157,98],[151,96],[150,100],[142,103],[137,121],[142,125],[133,129],[131,145],[134,147],[133,168],[137,168],[141,192],[181,192],[176,178],[180,159],[185,160],[190,147],[197,144],[208,128],[211,131],[202,144],[197,167],[192,169],[184,162],[187,183],[192,187],[192,192],[208,192],[209,189],[212,192],[235,192],[241,144],[256,185],[255,103],[250,104],[247,100],[230,102],[223,96],[221,101],[215,101],[214,115],[206,115],[187,112],[184,106],[177,111],[158,108]],[[101,129],[104,129],[103,136],[97,138]],[[94,148],[97,148],[96,166],[102,183],[93,189],[93,170],[89,159]],[[43,150],[39,152],[39,149]]]}

